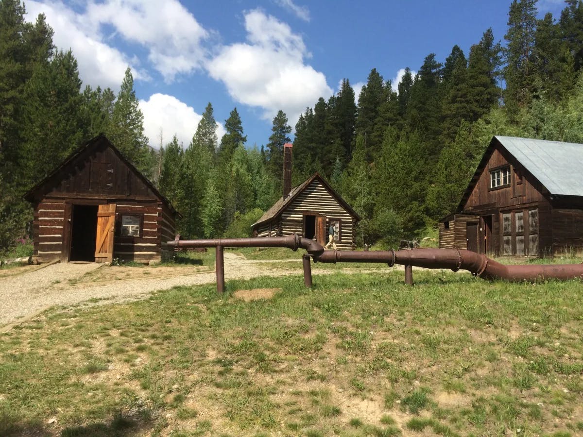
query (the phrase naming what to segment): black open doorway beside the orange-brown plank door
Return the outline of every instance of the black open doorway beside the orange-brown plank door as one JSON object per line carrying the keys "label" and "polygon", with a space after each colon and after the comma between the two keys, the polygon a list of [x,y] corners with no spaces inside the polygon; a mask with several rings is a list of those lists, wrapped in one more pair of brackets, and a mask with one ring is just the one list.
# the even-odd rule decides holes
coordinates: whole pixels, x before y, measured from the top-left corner
{"label": "black open doorway beside the orange-brown plank door", "polygon": [[94,261],[97,206],[73,205],[69,261]]}

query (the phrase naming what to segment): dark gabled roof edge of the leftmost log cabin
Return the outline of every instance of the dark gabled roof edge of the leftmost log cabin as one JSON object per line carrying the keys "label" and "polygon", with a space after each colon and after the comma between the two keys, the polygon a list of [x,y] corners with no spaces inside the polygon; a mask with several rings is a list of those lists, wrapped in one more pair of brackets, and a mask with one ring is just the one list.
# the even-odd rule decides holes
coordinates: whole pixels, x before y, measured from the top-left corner
{"label": "dark gabled roof edge of the leftmost log cabin", "polygon": [[[123,161],[125,165],[127,165],[130,170],[132,170],[141,180],[142,182],[152,190],[154,195],[156,195],[160,200],[162,200],[166,205],[170,208],[170,210],[174,213],[177,211],[174,209],[174,206],[170,203],[170,200],[166,199],[161,193],[157,190],[157,188],[150,182],[148,178],[146,178],[141,171],[139,171],[134,164],[132,164],[125,156],[113,145],[111,144],[110,140],[103,134],[97,135],[95,138],[90,139],[83,145],[79,146],[73,153],[69,155],[68,158],[65,159],[61,164],[58,165],[55,170],[53,170],[47,177],[45,177],[42,181],[38,182],[38,184],[34,185],[23,197],[24,199],[28,200],[29,202],[33,202],[34,194],[40,191],[45,184],[51,182],[53,179],[59,177],[61,170],[68,167],[68,165],[72,164],[81,154],[83,153],[90,153],[93,149],[100,146],[102,143],[106,143],[111,150]],[[178,213],[180,215],[180,213]]]}

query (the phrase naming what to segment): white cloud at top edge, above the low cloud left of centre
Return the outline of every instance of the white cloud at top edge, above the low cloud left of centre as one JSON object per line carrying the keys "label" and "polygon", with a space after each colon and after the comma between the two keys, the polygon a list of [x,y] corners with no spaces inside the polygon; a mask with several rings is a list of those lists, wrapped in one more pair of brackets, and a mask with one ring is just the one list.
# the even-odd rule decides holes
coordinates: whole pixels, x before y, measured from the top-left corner
{"label": "white cloud at top edge, above the low cloud left of centre", "polygon": [[202,67],[202,41],[209,33],[177,0],[90,2],[86,16],[111,24],[125,40],[147,48],[148,60],[166,82]]}

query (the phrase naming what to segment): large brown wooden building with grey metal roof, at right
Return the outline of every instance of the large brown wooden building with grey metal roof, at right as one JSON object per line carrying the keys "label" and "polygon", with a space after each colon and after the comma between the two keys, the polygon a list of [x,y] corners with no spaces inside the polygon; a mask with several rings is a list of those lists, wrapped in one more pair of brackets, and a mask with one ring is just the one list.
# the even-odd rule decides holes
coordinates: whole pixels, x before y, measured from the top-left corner
{"label": "large brown wooden building with grey metal roof, at right", "polygon": [[583,251],[583,145],[494,136],[440,248],[494,256]]}

